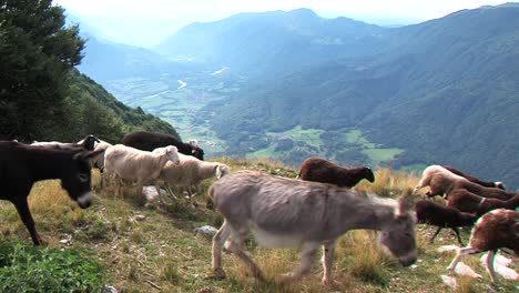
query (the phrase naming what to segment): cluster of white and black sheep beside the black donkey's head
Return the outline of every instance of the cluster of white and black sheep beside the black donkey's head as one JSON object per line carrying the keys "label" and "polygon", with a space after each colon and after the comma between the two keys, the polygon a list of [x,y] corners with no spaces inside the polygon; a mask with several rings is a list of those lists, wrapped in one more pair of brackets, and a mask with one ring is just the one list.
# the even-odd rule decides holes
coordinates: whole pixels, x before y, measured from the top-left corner
{"label": "cluster of white and black sheep beside the black donkey's head", "polygon": [[88,135],[78,143],[33,142],[33,145],[68,148],[82,146],[86,150],[103,151],[94,162],[93,168],[102,172],[101,185],[105,185],[109,176],[115,176],[118,185],[115,194],[121,194],[125,182],[136,184],[154,184],[163,203],[159,183],[166,185],[171,196],[176,198],[170,185],[183,186],[192,202],[193,190],[204,179],[220,179],[231,172],[231,169],[220,162],[203,161],[204,152],[194,142],[184,143],[165,133],[138,131],[126,134],[123,144],[112,145],[109,142]]}

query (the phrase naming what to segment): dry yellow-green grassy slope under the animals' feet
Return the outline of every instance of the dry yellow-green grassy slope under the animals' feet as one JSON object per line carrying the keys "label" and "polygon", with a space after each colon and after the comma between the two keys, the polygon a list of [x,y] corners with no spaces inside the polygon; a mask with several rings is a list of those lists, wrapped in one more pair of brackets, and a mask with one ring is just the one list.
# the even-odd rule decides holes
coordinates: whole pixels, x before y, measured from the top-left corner
{"label": "dry yellow-green grassy slope under the animals' feet", "polygon": [[[273,174],[294,178],[296,170],[271,161],[245,161],[215,158],[230,164],[234,171],[241,169],[263,170]],[[384,196],[394,196],[411,188],[418,179],[410,173],[380,169],[374,184],[363,182],[358,188]],[[204,182],[204,194],[210,185]],[[102,267],[103,274],[89,271],[98,284],[115,286],[120,292],[437,292],[449,291],[441,283],[440,275],[447,274],[446,266],[452,253],[439,253],[437,247],[456,244],[451,232],[442,231],[435,244],[428,239],[435,229],[418,225],[418,261],[416,266],[401,267],[393,257],[386,256],[375,244],[373,233],[349,232],[338,242],[334,265],[337,284],[323,286],[322,266],[316,260],[312,273],[301,282],[278,283],[277,276],[293,269],[299,260],[298,250],[266,250],[247,242],[247,253],[265,270],[267,282],[252,279],[246,267],[233,255],[224,254],[226,280],[211,277],[211,240],[194,236],[193,230],[201,225],[218,226],[220,215],[205,206],[205,195],[197,195],[197,208],[181,199],[167,199],[167,205],[156,202],[145,204],[139,188],[125,189],[124,198],[113,195],[113,186],[101,190],[99,173],[94,173],[95,201],[88,210],[80,210],[69,200],[59,182],[47,181],[37,184],[30,195],[30,205],[37,229],[48,242],[57,263],[55,273],[62,263],[69,267],[81,266],[73,252],[93,261]],[[12,246],[31,246],[29,233],[9,202],[0,202],[0,232],[2,242]],[[467,242],[467,231],[462,233]],[[70,241],[69,241],[70,240]],[[61,243],[62,241],[63,243]],[[21,244],[17,244],[21,243]],[[67,254],[69,253],[69,254]],[[0,250],[1,259],[2,250]],[[57,255],[60,256],[57,256]],[[467,256],[469,264],[482,280],[458,279],[456,292],[484,292],[489,276],[479,264],[479,255]],[[517,261],[517,259],[516,259]],[[35,265],[35,264],[34,264]],[[42,265],[50,265],[45,262]],[[512,267],[519,270],[515,264]],[[39,271],[31,276],[37,279]],[[51,277],[51,272],[44,277]],[[4,274],[0,271],[0,279]],[[102,276],[103,275],[103,276]],[[512,292],[516,282],[499,277],[499,291]],[[12,279],[11,279],[12,282]]]}

